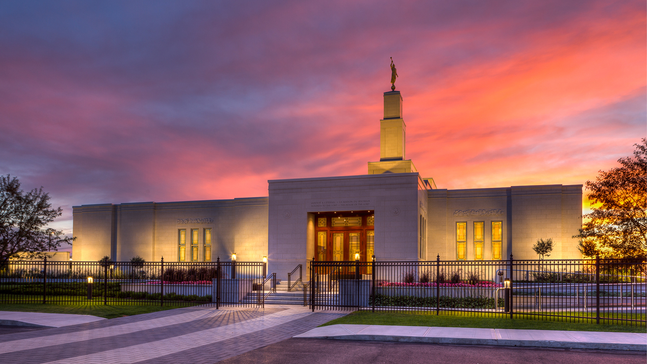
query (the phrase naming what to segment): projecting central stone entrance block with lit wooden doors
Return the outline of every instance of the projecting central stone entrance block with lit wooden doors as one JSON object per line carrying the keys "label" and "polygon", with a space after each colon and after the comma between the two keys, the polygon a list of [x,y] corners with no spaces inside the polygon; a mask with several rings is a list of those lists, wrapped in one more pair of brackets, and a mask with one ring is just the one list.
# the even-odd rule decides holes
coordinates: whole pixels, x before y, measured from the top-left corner
{"label": "projecting central stone entrance block with lit wooden doors", "polygon": [[[423,185],[417,173],[270,180],[270,270],[290,271],[313,257],[319,260],[322,249],[330,260],[355,260],[351,231],[360,233],[356,238],[362,261],[370,258],[367,249],[373,242],[378,260],[421,258],[417,231],[427,203]],[[320,218],[325,218],[325,226],[319,226]],[[344,229],[331,226],[340,218],[355,219],[346,222]],[[318,234],[324,231],[325,236]],[[345,250],[335,258],[340,233]],[[373,242],[369,234],[374,234]]]}

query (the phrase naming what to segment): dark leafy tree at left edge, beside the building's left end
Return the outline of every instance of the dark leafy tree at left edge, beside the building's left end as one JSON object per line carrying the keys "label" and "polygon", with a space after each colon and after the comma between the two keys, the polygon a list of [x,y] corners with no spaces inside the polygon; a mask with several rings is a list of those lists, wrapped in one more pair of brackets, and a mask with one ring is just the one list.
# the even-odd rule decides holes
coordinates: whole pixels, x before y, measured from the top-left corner
{"label": "dark leafy tree at left edge, beside the building's left end", "polygon": [[52,209],[49,194],[43,187],[25,192],[16,177],[0,176],[0,262],[16,258],[44,258],[45,251],[56,251],[61,244],[72,244],[74,238],[63,231],[47,228],[63,214]]}

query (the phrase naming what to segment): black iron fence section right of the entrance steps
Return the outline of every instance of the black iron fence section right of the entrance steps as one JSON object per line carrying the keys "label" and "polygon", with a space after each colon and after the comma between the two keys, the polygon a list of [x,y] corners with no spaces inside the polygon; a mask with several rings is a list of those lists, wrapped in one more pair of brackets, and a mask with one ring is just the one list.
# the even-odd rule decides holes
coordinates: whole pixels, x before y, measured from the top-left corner
{"label": "black iron fence section right of the entrance steps", "polygon": [[427,312],[646,326],[642,260],[317,262],[314,311]]}

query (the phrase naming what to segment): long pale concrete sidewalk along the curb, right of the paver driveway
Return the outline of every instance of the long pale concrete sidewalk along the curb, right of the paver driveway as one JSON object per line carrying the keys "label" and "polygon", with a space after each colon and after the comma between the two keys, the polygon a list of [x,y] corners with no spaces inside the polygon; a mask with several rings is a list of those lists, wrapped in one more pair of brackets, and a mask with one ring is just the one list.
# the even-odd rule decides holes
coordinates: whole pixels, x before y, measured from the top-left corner
{"label": "long pale concrete sidewalk along the curb, right of the paver driveway", "polygon": [[313,328],[313,330],[294,337],[400,341],[406,343],[647,351],[647,334],[633,332],[336,324]]}

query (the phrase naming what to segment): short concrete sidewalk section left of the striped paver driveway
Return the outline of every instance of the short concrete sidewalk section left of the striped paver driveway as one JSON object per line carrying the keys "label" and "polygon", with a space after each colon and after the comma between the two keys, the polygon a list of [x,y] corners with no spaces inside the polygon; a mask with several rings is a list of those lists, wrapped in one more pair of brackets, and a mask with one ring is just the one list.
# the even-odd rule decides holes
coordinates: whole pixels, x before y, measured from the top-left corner
{"label": "short concrete sidewalk section left of the striped paver driveway", "polygon": [[70,315],[67,313],[0,311],[0,324],[12,326],[63,327],[100,320],[105,319],[91,315]]}

